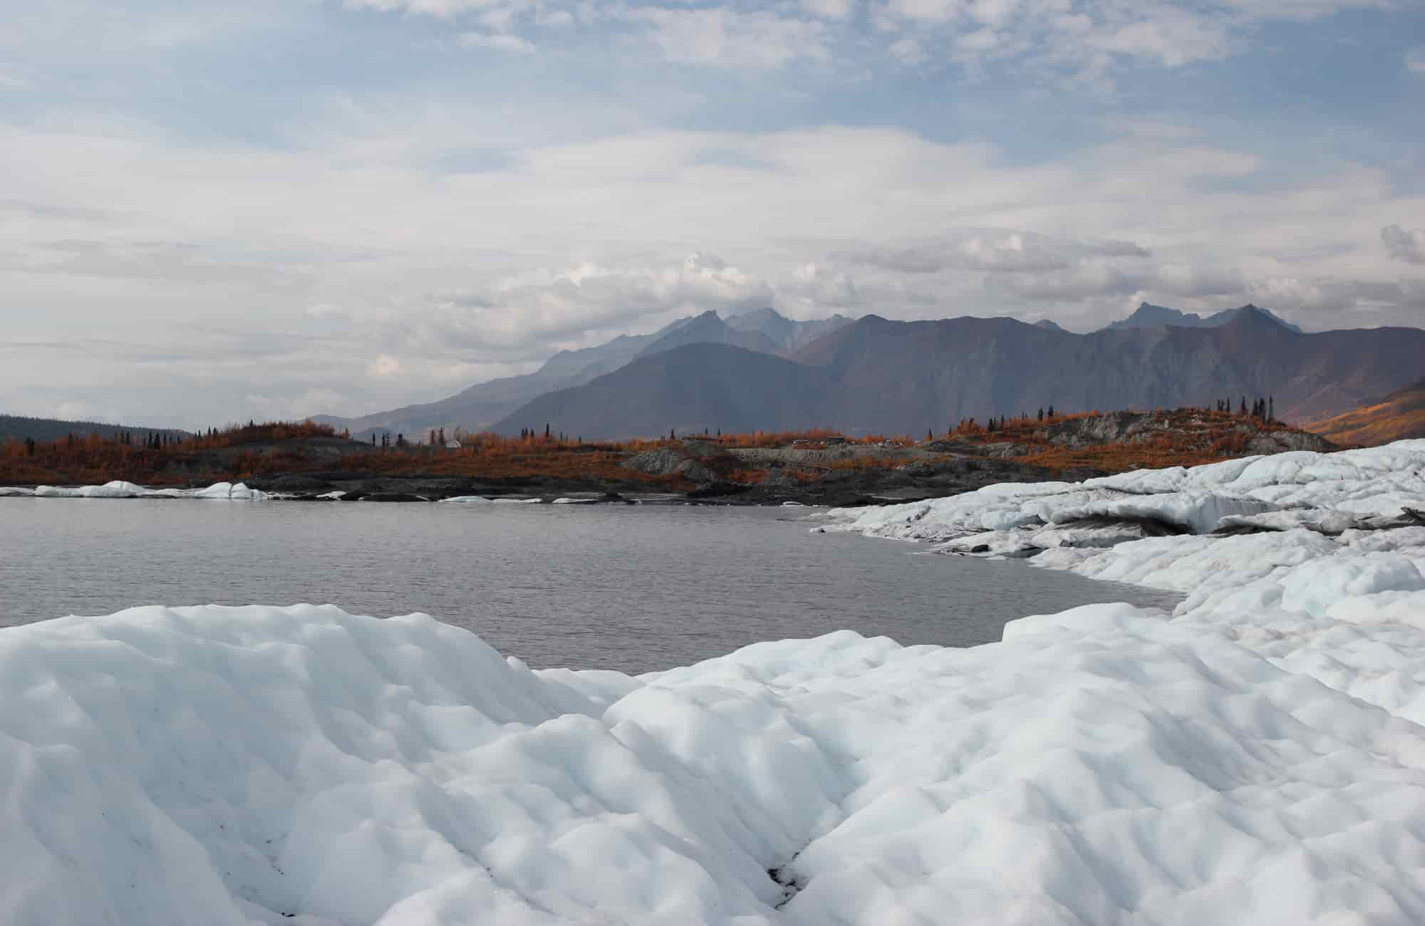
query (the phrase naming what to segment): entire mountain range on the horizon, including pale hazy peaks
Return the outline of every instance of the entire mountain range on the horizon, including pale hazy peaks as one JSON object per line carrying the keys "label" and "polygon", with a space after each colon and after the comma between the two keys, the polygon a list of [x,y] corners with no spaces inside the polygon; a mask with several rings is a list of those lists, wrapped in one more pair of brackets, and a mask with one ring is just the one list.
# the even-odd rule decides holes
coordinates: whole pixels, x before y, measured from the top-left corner
{"label": "entire mountain range on the horizon, including pale hazy peaks", "polygon": [[358,437],[544,425],[586,439],[811,426],[919,435],[1050,405],[1151,409],[1241,396],[1273,396],[1280,417],[1314,420],[1421,376],[1425,331],[1304,333],[1253,305],[1204,318],[1143,303],[1087,335],[1009,318],[795,322],[761,309],[730,319],[705,312],[561,352],[536,373],[442,402],[318,420]]}

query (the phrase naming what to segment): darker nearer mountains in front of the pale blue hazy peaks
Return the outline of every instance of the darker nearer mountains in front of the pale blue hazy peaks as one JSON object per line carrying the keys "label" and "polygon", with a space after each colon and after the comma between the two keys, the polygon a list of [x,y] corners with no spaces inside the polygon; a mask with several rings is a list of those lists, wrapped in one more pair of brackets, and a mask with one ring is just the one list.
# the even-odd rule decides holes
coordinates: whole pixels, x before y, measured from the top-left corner
{"label": "darker nearer mountains in front of the pale blue hazy peaks", "polygon": [[[892,322],[871,315],[795,352],[795,363],[751,363],[740,353],[657,355],[663,363],[640,360],[564,390],[556,402],[543,403],[544,396],[497,429],[510,433],[549,420],[584,437],[654,436],[670,426],[923,435],[966,417],[983,422],[1050,405],[1064,412],[1154,409],[1217,399],[1235,405],[1241,396],[1273,396],[1278,417],[1310,420],[1425,375],[1425,331],[1301,335],[1255,309],[1217,328],[1092,335],[1007,318]],[[750,396],[757,396],[754,405],[744,402]]]}

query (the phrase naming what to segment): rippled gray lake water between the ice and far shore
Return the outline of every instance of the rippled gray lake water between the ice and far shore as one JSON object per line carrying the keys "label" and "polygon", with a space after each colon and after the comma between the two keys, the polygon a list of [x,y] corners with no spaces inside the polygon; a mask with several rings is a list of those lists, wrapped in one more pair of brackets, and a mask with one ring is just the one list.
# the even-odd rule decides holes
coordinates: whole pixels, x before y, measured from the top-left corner
{"label": "rippled gray lake water between the ice and far shore", "polygon": [[811,534],[805,510],[0,499],[0,627],[138,604],[425,611],[533,667],[671,668],[851,628],[999,640],[1005,621],[1177,595]]}

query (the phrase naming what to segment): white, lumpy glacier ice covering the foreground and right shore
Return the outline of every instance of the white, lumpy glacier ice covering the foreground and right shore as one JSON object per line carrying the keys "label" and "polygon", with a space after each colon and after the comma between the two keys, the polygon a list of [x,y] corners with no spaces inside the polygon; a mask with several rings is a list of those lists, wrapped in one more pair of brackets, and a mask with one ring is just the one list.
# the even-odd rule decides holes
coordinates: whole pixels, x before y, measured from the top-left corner
{"label": "white, lumpy glacier ice covering the foreground and right shore", "polygon": [[1421,510],[1402,442],[811,516],[1184,593],[963,650],[630,677],[333,605],[0,630],[0,922],[1425,922]]}

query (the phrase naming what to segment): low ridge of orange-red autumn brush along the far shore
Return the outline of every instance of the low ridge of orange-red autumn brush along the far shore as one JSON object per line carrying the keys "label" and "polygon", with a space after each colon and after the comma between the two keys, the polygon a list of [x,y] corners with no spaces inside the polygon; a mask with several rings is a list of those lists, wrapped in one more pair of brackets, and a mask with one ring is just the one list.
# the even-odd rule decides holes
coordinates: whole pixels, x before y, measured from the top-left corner
{"label": "low ridge of orange-red autumn brush along the far shore", "polygon": [[[1136,416],[1136,432],[1119,440],[1087,442],[1107,433],[1113,416],[1099,412],[1022,416],[980,423],[960,422],[942,435],[916,440],[908,435],[874,435],[849,440],[858,447],[845,459],[811,463],[768,463],[737,450],[777,447],[828,449],[834,432],[752,432],[691,435],[685,440],[628,440],[586,443],[534,433],[524,437],[457,435],[460,447],[432,444],[372,446],[349,440],[328,425],[265,422],[172,436],[144,446],[125,437],[68,436],[33,444],[0,443],[0,484],[80,484],[111,479],[161,486],[286,474],[372,474],[390,477],[550,479],[584,483],[646,483],[650,487],[690,487],[681,476],[653,476],[623,466],[633,454],[660,447],[708,460],[722,460],[720,479],[757,484],[771,467],[799,483],[856,472],[905,466],[908,450],[921,456],[998,456],[1050,472],[1094,469],[1123,472],[1140,467],[1193,466],[1250,452],[1254,437],[1291,430],[1247,415],[1206,409],[1159,410]],[[690,452],[690,447],[693,450]]]}

